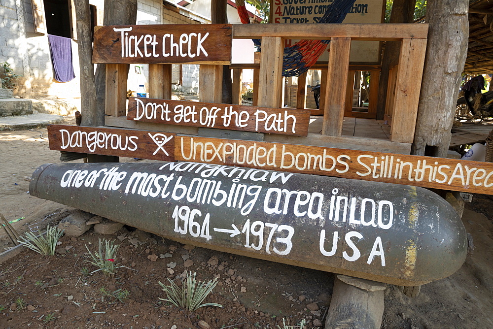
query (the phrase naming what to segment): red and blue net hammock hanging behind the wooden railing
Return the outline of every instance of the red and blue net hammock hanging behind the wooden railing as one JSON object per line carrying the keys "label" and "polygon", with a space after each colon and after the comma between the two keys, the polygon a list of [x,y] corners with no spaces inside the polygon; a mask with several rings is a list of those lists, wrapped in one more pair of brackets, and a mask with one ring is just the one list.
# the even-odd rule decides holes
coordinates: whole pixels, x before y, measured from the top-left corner
{"label": "red and blue net hammock hanging behind the wooden railing", "polygon": [[[334,0],[318,23],[341,23],[356,0]],[[236,9],[243,24],[250,24],[245,0],[236,0]],[[252,39],[260,50],[260,39]],[[300,40],[284,48],[282,76],[299,76],[313,66],[330,40]]]}

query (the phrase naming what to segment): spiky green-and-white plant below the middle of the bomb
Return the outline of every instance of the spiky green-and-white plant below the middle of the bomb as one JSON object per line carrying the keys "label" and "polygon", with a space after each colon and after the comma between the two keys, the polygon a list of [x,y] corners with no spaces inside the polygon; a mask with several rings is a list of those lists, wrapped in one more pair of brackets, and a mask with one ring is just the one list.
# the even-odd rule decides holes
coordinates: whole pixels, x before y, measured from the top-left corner
{"label": "spiky green-and-white plant below the middle of the bomb", "polygon": [[186,282],[184,282],[181,287],[178,287],[175,282],[168,279],[170,285],[167,286],[161,281],[159,285],[163,288],[166,293],[167,298],[159,298],[164,301],[169,301],[177,307],[185,308],[189,311],[194,312],[203,306],[217,306],[222,307],[221,304],[217,303],[205,303],[201,304],[207,295],[209,295],[217,285],[217,278],[210,280],[209,282],[197,282],[195,276],[197,273],[186,272]]}

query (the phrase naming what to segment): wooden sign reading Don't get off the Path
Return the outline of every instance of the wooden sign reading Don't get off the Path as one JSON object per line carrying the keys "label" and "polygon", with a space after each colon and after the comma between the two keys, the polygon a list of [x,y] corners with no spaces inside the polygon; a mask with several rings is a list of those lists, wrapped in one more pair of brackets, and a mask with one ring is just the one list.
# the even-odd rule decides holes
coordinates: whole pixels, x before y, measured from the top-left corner
{"label": "wooden sign reading Don't get off the Path", "polygon": [[310,111],[132,97],[127,120],[307,136]]}

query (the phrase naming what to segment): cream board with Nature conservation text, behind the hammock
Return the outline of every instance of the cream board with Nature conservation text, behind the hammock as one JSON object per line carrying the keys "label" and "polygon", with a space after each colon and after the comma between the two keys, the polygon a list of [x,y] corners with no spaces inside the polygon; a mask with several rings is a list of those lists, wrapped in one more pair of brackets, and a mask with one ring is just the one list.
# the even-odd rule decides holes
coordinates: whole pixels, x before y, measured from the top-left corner
{"label": "cream board with Nature conservation text, behind the hammock", "polygon": [[[330,11],[332,3],[333,0],[271,0],[271,22],[317,24]],[[384,4],[383,0],[356,0],[343,23],[382,23]],[[296,41],[298,40],[286,40],[286,46],[291,46]],[[376,63],[379,59],[379,41],[351,42],[351,62]],[[328,51],[318,61],[328,61]]]}

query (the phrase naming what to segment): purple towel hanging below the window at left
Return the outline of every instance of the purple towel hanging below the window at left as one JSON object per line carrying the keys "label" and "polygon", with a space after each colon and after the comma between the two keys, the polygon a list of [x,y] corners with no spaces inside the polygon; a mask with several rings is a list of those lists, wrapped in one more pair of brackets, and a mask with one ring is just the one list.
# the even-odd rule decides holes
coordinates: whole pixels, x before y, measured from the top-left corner
{"label": "purple towel hanging below the window at left", "polygon": [[69,82],[75,78],[72,65],[72,45],[70,38],[48,34],[51,62],[55,71],[55,80]]}

